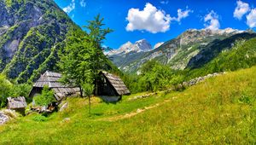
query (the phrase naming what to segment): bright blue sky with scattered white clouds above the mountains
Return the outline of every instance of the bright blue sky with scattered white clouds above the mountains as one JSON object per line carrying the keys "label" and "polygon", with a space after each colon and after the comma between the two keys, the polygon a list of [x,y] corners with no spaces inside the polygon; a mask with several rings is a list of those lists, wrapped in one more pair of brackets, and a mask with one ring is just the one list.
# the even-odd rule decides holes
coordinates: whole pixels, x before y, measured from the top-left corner
{"label": "bright blue sky with scattered white clouds above the mountains", "polygon": [[[55,0],[79,26],[97,14],[113,29],[104,46],[145,38],[154,44],[176,38],[188,29],[256,30],[256,0]],[[86,30],[84,30],[86,31]]]}

